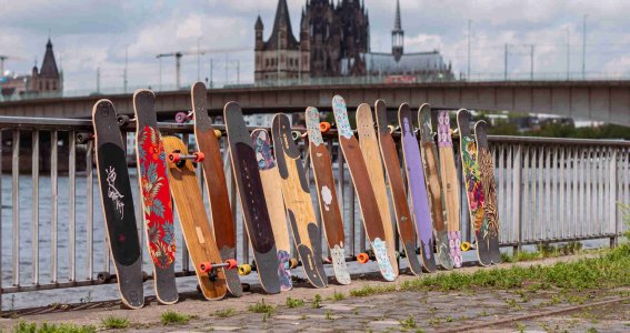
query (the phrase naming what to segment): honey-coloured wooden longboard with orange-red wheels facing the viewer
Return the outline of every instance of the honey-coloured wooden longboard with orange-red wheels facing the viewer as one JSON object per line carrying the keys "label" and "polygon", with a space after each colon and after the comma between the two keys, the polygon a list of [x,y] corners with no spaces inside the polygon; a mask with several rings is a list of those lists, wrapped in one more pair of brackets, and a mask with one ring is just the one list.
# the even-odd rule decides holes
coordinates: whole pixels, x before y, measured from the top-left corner
{"label": "honey-coloured wooden longboard with orange-red wheels facing the viewer", "polygon": [[[188,154],[188,149],[179,138],[164,137],[162,142],[167,154]],[[224,270],[217,269],[214,272],[217,276],[210,279],[208,273],[203,273],[200,269],[202,262],[218,264],[222,263],[223,260],[214,242],[212,230],[210,230],[210,221],[208,221],[208,215],[206,215],[206,208],[203,206],[201,189],[199,188],[194,168],[190,160],[186,160],[182,167],[178,167],[170,161],[167,165],[171,194],[181,223],[183,239],[190,253],[190,260],[197,272],[199,286],[206,299],[220,300],[227,293]]]}

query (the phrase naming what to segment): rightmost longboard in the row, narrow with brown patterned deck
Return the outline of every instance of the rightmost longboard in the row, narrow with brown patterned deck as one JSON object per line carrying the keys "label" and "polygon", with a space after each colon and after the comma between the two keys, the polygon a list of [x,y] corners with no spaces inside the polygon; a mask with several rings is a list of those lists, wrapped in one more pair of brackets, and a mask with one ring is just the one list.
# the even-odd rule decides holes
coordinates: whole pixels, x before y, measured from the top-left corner
{"label": "rightmost longboard in the row, narrow with brown patterned deck", "polygon": [[499,251],[499,202],[497,201],[497,184],[494,182],[494,159],[488,148],[488,124],[481,120],[474,124],[474,138],[477,139],[477,158],[479,171],[481,172],[481,185],[483,188],[483,209],[488,219],[488,236],[490,259],[492,263],[501,262]]}

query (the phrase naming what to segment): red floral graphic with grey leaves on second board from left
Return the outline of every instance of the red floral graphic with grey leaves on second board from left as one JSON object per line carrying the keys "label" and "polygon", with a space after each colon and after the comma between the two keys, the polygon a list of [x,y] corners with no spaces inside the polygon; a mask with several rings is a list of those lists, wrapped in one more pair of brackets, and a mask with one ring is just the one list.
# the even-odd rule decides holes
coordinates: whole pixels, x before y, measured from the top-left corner
{"label": "red floral graphic with grey leaves on second board from left", "polygon": [[167,180],[167,161],[160,134],[144,127],[138,143],[144,221],[151,258],[167,268],[174,261],[176,238],[171,194]]}

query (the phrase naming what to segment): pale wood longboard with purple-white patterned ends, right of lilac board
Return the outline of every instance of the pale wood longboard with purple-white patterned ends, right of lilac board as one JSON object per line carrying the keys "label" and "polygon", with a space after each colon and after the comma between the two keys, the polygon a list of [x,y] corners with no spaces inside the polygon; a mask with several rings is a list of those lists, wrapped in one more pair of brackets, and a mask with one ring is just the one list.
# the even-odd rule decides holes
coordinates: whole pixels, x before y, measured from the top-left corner
{"label": "pale wood longboard with purple-white patterned ends, right of lilac board", "polygon": [[438,151],[440,152],[440,175],[447,209],[447,232],[453,266],[461,268],[461,231],[459,180],[450,133],[449,111],[438,113]]}

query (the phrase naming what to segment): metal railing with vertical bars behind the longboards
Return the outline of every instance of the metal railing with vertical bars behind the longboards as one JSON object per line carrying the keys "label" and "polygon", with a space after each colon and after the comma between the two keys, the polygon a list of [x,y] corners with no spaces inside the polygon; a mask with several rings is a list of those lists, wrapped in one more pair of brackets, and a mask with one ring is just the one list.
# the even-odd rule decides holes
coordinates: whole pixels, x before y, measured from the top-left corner
{"label": "metal railing with vertical bars behind the longboards", "polygon": [[[159,127],[163,134],[177,134],[193,144],[191,124],[160,123]],[[128,138],[133,137],[133,130],[132,124],[123,128]],[[91,122],[87,120],[0,117],[0,291],[4,299],[21,292],[97,285],[102,283],[100,272],[111,272],[93,168],[94,145],[86,140],[91,132]],[[347,254],[354,255],[367,246],[362,223],[357,218],[360,214],[354,191],[344,160],[339,155],[336,131],[326,134],[324,140],[333,155]],[[237,260],[249,262],[249,242],[242,229],[240,203],[236,200],[226,141],[223,137],[222,155],[237,216]],[[596,239],[610,240],[613,245],[627,230],[618,203],[630,202],[630,142],[523,137],[490,137],[489,142],[494,155],[502,246],[520,249],[540,242]],[[308,147],[304,140],[300,145]],[[308,157],[306,151],[304,157]],[[310,167],[309,161],[306,163]],[[136,176],[133,165],[130,173]],[[312,174],[309,180],[312,184]],[[131,183],[137,182],[132,179]],[[136,188],[132,186],[138,232],[144,244]],[[461,230],[464,240],[471,241],[466,193],[461,194]],[[192,275],[179,228],[176,221],[180,249],[177,275]],[[322,241],[326,244],[323,235]],[[150,275],[147,251],[143,262]],[[117,299],[118,294],[107,297]],[[12,307],[11,304],[4,310]]]}

